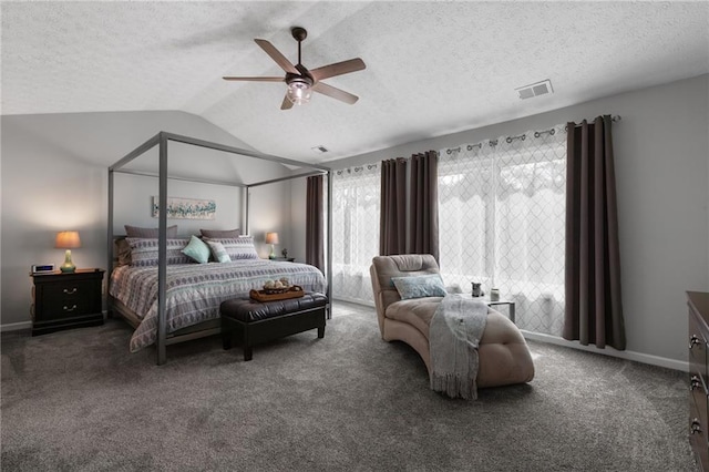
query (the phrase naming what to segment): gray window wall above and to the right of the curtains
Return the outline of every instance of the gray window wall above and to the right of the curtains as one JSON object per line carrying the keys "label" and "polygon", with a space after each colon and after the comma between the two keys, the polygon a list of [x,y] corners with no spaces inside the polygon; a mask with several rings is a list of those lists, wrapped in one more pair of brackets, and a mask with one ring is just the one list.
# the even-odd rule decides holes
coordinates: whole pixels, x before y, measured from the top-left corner
{"label": "gray window wall above and to the right of the curtains", "polygon": [[709,75],[701,75],[328,165],[407,157],[599,114],[620,115],[614,147],[628,342],[627,352],[616,355],[686,368],[685,290],[709,290],[708,94]]}

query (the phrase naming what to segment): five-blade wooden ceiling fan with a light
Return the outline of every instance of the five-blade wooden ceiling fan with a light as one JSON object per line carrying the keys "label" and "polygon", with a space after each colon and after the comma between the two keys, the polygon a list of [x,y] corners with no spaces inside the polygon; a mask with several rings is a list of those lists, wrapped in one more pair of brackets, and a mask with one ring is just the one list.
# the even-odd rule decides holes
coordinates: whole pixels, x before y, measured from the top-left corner
{"label": "five-blade wooden ceiling fan with a light", "polygon": [[328,85],[320,82],[323,79],[332,78],[336,75],[348,74],[350,72],[361,71],[366,68],[364,61],[359,58],[350,59],[349,61],[336,62],[333,64],[323,65],[318,69],[309,71],[300,62],[300,43],[308,37],[308,32],[305,28],[295,27],[290,30],[294,39],[298,41],[298,63],[294,65],[284,54],[280,53],[271,43],[266,40],[255,39],[256,44],[260,45],[270,59],[286,71],[285,78],[276,76],[257,76],[257,78],[235,78],[225,76],[224,80],[232,81],[255,81],[255,82],[286,82],[288,90],[286,96],[280,105],[280,110],[289,110],[292,105],[301,105],[310,101],[312,92],[318,92],[323,95],[328,95],[332,99],[340,100],[350,105],[354,104],[359,100],[357,95],[352,95],[349,92]]}

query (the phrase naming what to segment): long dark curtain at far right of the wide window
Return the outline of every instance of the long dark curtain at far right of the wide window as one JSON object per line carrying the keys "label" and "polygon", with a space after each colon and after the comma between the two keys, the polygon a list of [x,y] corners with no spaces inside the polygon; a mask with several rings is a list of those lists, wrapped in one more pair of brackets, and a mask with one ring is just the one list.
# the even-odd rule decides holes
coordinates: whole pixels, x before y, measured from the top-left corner
{"label": "long dark curtain at far right of the wide window", "polygon": [[625,349],[609,115],[567,124],[564,338]]}

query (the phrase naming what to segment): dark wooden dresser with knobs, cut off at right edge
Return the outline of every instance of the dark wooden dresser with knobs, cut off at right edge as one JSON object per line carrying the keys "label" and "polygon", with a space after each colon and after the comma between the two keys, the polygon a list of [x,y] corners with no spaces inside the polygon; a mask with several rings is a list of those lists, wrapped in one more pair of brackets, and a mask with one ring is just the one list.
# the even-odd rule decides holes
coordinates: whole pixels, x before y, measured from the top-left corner
{"label": "dark wooden dresser with knobs, cut off at right edge", "polygon": [[709,472],[709,294],[688,291],[689,306],[689,441],[697,463]]}

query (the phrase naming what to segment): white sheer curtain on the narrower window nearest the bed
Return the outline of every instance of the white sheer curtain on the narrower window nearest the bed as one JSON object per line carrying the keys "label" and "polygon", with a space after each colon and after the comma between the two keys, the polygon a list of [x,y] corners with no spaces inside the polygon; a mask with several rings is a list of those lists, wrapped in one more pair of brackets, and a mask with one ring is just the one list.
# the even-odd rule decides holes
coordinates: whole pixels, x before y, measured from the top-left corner
{"label": "white sheer curtain on the narrower window nearest the bed", "polygon": [[332,297],[373,305],[369,266],[379,255],[378,164],[332,173]]}

